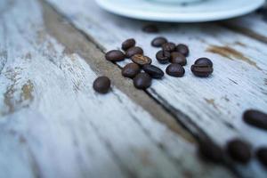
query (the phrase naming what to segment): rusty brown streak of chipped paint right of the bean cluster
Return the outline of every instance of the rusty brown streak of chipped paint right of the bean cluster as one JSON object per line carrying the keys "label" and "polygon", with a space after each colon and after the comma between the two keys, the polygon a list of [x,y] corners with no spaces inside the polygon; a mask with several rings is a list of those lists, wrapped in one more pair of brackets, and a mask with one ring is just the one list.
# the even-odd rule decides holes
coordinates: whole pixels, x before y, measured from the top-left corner
{"label": "rusty brown streak of chipped paint right of the bean cluster", "polygon": [[[245,61],[245,62],[247,62],[247,64],[254,66],[256,69],[260,69],[257,66],[257,63],[255,61],[251,61],[243,53],[240,53],[237,50],[235,50],[229,46],[210,45],[206,49],[206,51],[210,52],[210,53],[219,54],[219,55],[221,55],[227,59],[230,59],[232,61],[234,61],[234,60]],[[262,69],[260,69],[260,70],[262,70]]]}

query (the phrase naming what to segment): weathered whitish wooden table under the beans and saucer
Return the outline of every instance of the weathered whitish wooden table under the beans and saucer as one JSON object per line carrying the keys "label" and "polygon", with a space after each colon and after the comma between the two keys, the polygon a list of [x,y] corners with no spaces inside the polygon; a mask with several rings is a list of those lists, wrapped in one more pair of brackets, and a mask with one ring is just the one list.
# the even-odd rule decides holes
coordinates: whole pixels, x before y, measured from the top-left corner
{"label": "weathered whitish wooden table under the beans and saucer", "polygon": [[[222,166],[197,152],[199,138],[267,145],[266,132],[242,121],[246,109],[267,110],[264,14],[154,23],[159,33],[148,34],[150,22],[93,0],[0,1],[0,177],[267,177],[255,158]],[[129,60],[114,65],[104,53],[134,37],[154,57],[155,36],[190,46],[186,74],[136,90],[120,74]],[[190,65],[203,56],[214,74],[194,77]],[[101,75],[112,80],[109,94],[93,91]]]}

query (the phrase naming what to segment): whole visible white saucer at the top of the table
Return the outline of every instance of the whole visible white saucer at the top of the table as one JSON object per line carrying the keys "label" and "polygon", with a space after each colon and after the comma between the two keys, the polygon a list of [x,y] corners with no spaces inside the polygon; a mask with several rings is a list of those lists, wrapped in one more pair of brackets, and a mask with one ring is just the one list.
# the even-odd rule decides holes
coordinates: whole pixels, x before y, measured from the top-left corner
{"label": "whole visible white saucer at the top of the table", "polygon": [[105,10],[140,20],[200,22],[225,20],[255,11],[264,0],[206,0],[193,4],[155,3],[151,0],[96,0]]}

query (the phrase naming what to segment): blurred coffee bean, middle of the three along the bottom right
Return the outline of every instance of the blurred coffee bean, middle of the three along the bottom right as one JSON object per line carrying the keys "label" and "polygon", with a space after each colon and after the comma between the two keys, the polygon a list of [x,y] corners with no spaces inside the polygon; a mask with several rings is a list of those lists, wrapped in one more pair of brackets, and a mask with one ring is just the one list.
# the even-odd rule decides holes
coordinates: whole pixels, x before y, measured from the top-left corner
{"label": "blurred coffee bean, middle of the three along the bottom right", "polygon": [[232,159],[239,163],[246,164],[251,159],[250,145],[239,139],[234,139],[227,143],[227,152]]}

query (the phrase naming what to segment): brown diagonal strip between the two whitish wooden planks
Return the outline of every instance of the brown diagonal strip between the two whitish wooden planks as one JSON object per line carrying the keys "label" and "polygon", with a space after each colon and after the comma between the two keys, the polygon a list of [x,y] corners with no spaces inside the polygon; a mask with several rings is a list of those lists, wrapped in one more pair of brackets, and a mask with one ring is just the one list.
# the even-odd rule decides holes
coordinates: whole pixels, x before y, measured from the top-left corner
{"label": "brown diagonal strip between the two whitish wooden planks", "polygon": [[141,90],[134,88],[131,79],[122,77],[121,70],[104,59],[103,47],[96,44],[92,37],[73,27],[56,12],[53,6],[40,1],[43,6],[44,25],[48,33],[66,46],[65,53],[77,53],[99,75],[108,76],[113,85],[125,93],[134,102],[142,106],[158,121],[166,124],[174,133],[181,135],[188,142],[196,142],[192,135],[177,123],[177,118],[166,112],[165,107]]}

